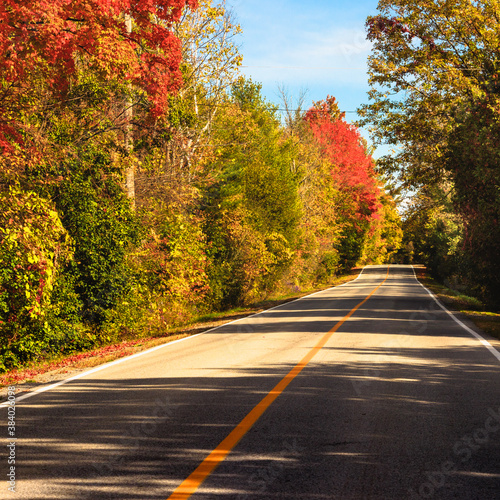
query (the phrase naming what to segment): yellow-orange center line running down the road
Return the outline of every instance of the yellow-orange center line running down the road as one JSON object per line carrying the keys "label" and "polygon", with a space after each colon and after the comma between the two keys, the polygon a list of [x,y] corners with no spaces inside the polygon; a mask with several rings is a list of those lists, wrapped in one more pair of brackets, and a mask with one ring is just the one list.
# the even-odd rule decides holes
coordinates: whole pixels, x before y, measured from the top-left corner
{"label": "yellow-orange center line running down the road", "polygon": [[255,406],[250,413],[231,431],[231,433],[208,455],[203,462],[174,490],[167,500],[186,500],[189,498],[214,471],[214,469],[229,455],[241,438],[251,429],[262,414],[271,406],[274,400],[287,388],[288,384],[307,366],[312,358],[325,346],[331,336],[387,281],[389,268],[382,281],[358,305],[347,313],[319,342],[285,375],[267,396]]}

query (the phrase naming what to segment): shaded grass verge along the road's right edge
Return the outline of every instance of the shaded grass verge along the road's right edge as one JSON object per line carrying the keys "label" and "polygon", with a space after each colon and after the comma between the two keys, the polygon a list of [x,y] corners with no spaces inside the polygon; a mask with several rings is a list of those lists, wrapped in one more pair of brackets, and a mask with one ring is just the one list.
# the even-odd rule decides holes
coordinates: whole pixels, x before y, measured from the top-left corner
{"label": "shaded grass verge along the road's right edge", "polygon": [[487,311],[485,305],[476,297],[471,297],[429,276],[425,267],[416,267],[415,272],[423,285],[431,290],[449,309],[461,312],[483,332],[500,339],[500,312]]}

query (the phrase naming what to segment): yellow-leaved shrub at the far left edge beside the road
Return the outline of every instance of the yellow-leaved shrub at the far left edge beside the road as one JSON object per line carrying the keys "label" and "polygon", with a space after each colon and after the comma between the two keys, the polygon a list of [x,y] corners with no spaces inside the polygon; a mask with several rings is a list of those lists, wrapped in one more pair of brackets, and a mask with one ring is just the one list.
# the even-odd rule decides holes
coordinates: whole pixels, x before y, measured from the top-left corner
{"label": "yellow-leaved shrub at the far left edge beside the road", "polygon": [[52,292],[71,255],[51,202],[19,187],[0,194],[0,370],[45,348]]}

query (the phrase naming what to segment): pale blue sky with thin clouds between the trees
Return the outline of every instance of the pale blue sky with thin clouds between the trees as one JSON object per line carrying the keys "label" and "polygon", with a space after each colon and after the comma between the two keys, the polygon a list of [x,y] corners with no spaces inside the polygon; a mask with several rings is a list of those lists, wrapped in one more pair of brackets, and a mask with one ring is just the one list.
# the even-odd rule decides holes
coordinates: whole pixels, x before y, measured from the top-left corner
{"label": "pale blue sky with thin clouds between the trees", "polygon": [[243,29],[242,72],[262,84],[267,100],[279,104],[282,85],[295,99],[306,90],[306,107],[327,95],[342,111],[368,102],[365,21],[377,0],[227,1]]}

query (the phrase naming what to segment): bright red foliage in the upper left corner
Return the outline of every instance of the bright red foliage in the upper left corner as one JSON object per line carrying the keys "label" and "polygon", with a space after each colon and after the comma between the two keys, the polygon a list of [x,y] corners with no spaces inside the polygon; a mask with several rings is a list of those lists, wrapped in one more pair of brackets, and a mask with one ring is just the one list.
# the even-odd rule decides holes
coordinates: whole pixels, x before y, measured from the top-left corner
{"label": "bright red foliage in the upper left corner", "polygon": [[[79,61],[143,90],[154,116],[182,82],[169,29],[197,0],[4,0],[0,3],[0,147],[19,140],[15,110],[28,81],[64,97]],[[133,19],[132,32],[126,19]]]}

